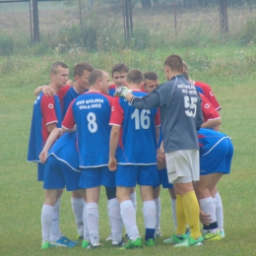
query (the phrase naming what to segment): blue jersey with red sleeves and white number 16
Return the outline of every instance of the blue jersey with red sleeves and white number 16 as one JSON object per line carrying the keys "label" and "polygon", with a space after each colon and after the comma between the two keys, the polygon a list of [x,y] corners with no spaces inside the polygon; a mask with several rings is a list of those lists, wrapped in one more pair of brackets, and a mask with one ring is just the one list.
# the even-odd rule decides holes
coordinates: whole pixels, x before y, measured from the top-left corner
{"label": "blue jersey with red sleeves and white number 16", "polygon": [[[134,91],[134,96],[147,96]],[[158,108],[137,109],[126,99],[115,97],[110,125],[122,127],[122,135],[117,151],[119,164],[156,164],[156,126],[160,126]]]}

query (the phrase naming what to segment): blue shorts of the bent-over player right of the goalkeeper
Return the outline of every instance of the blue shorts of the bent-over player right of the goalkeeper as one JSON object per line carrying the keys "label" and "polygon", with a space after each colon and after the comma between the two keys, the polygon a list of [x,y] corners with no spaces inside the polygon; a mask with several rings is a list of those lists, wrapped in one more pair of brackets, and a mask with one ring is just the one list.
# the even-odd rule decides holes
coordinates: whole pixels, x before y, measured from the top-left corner
{"label": "blue shorts of the bent-over player right of the goalkeeper", "polygon": [[232,143],[224,139],[209,154],[200,158],[200,175],[230,173],[232,156]]}

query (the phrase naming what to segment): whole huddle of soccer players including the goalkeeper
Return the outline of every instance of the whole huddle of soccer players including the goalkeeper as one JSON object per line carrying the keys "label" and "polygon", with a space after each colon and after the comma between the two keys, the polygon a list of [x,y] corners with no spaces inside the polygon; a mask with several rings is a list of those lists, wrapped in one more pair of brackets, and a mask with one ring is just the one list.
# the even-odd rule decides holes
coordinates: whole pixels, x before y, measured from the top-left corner
{"label": "whole huddle of soccer players including the goalkeeper", "polygon": [[45,190],[42,249],[78,244],[59,228],[59,199],[65,187],[72,191],[83,248],[100,245],[101,185],[108,202],[106,240],[120,249],[143,246],[136,224],[137,184],[146,246],[155,246],[161,235],[160,184],[169,190],[175,225],[175,233],[163,242],[197,246],[224,237],[216,186],[230,171],[232,145],[218,131],[221,107],[208,85],[189,79],[179,56],[166,58],[164,74],[167,82],[159,86],[155,72],[129,71],[118,63],[110,86],[105,71],[82,62],[74,68],[73,83],[65,63],[52,64],[49,86],[34,91],[28,152],[28,160],[37,162],[37,179]]}

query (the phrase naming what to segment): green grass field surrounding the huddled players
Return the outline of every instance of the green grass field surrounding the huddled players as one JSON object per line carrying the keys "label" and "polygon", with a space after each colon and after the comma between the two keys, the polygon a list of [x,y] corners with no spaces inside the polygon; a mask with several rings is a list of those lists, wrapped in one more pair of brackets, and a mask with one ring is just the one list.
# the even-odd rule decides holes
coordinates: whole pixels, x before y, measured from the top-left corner
{"label": "green grass field surrounding the huddled players", "polygon": [[[75,52],[75,51],[74,51]],[[87,60],[97,68],[110,71],[113,63],[123,61],[131,68],[144,72],[155,70],[163,82],[162,63],[171,53],[184,58],[191,77],[209,83],[223,109],[221,130],[233,141],[234,157],[231,174],[224,176],[219,190],[224,203],[223,241],[198,248],[177,248],[164,245],[162,240],[172,234],[173,224],[170,199],[161,190],[161,230],[155,248],[122,251],[123,255],[256,255],[256,199],[255,192],[255,95],[256,46],[223,45],[209,48],[169,48],[141,52],[109,53],[82,52],[47,56],[0,57],[0,255],[120,255],[104,239],[109,227],[106,199],[103,189],[99,202],[100,241],[98,250],[73,249],[41,251],[40,211],[43,203],[42,184],[36,182],[36,165],[28,163],[27,148],[32,118],[32,91],[48,83],[52,62],[64,61],[71,74],[75,63]],[[71,76],[72,77],[72,76]],[[142,203],[138,196],[138,225],[144,235]],[[75,239],[76,227],[71,211],[70,194],[64,192],[61,200],[61,230]]]}

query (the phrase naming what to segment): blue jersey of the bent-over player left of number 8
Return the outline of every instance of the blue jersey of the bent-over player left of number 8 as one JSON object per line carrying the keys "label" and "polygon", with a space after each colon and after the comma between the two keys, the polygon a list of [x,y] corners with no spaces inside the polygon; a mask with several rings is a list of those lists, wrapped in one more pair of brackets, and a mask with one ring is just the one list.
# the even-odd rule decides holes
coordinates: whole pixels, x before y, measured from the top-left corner
{"label": "blue jersey of the bent-over player left of number 8", "polygon": [[64,133],[49,150],[49,156],[54,156],[69,165],[73,170],[79,170],[79,159],[77,151],[77,132]]}

